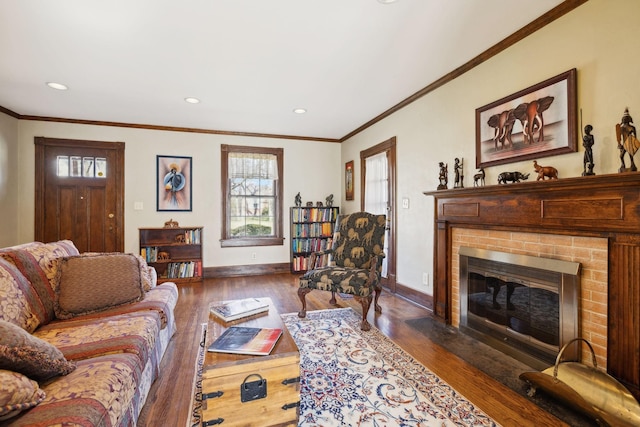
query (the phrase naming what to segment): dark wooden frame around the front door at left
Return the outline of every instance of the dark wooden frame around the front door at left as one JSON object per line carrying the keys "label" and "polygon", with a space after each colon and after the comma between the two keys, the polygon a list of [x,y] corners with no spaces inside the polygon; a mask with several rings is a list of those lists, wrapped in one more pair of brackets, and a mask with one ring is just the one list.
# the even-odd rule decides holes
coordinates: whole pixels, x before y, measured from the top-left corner
{"label": "dark wooden frame around the front door at left", "polygon": [[44,212],[45,204],[45,149],[47,147],[89,148],[115,151],[115,165],[109,173],[113,174],[116,194],[116,248],[124,251],[124,142],[112,141],[87,141],[76,139],[46,138],[37,136],[35,144],[35,224],[34,240],[42,241],[44,236]]}

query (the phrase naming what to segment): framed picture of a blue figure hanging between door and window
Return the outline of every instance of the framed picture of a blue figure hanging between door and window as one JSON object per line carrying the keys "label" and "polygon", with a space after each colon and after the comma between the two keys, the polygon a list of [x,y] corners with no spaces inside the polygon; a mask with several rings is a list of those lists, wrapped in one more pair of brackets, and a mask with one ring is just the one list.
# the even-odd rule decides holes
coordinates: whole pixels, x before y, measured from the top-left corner
{"label": "framed picture of a blue figure hanging between door and window", "polygon": [[190,212],[192,158],[156,156],[156,210]]}

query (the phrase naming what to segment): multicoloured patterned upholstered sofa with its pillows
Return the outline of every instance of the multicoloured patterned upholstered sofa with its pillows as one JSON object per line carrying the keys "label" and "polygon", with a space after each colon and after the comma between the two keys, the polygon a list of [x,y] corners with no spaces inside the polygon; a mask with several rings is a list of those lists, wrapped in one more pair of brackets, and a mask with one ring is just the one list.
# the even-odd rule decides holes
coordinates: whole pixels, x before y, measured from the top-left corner
{"label": "multicoloured patterned upholstered sofa with its pillows", "polygon": [[137,255],[0,249],[0,425],[136,425],[177,299]]}

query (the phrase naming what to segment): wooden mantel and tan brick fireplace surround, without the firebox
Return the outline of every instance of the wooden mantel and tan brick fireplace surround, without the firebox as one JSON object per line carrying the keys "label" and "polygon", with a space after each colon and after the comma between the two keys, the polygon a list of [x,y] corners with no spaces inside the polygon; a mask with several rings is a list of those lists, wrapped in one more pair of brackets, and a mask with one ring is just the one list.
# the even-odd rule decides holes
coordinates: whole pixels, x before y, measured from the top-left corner
{"label": "wooden mantel and tan brick fireplace surround, without the firebox", "polygon": [[640,173],[424,194],[436,202],[437,319],[459,326],[461,246],[579,262],[580,335],[640,398]]}

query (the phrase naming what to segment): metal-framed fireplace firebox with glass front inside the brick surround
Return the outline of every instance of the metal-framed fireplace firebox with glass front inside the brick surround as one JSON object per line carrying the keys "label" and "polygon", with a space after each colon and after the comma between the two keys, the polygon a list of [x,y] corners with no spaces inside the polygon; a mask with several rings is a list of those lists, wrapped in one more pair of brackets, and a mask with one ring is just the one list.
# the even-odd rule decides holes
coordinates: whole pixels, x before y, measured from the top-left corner
{"label": "metal-framed fireplace firebox with glass front inside the brick surround", "polygon": [[[460,330],[536,369],[579,336],[580,263],[460,248]],[[563,353],[578,360],[578,345]]]}

